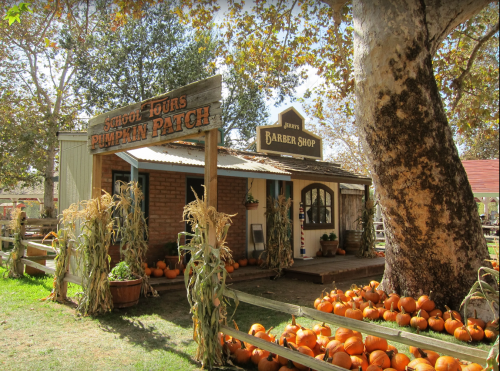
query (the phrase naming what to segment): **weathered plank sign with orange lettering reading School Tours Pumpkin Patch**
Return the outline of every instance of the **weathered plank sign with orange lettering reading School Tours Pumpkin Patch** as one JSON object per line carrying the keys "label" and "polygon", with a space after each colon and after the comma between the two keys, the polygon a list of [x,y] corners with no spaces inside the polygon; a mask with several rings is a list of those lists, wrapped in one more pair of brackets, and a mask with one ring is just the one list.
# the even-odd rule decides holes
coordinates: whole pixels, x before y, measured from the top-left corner
{"label": "weathered plank sign with orange lettering reading School Tours Pumpkin Patch", "polygon": [[222,77],[216,75],[96,116],[89,122],[89,152],[105,154],[159,145],[220,128],[221,98]]}

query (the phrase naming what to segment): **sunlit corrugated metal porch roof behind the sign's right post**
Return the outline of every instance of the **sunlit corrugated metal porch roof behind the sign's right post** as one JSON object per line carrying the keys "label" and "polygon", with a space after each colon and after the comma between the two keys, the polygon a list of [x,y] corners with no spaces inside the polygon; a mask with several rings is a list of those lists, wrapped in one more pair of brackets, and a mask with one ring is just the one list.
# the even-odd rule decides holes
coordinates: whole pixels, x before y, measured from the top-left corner
{"label": "sunlit corrugated metal porch roof behind the sign's right post", "polygon": [[[127,151],[127,153],[142,162],[168,163],[187,166],[205,166],[204,147],[185,144],[166,144]],[[289,172],[277,167],[253,161],[239,155],[237,151],[219,148],[217,168],[240,170],[259,173],[286,174]]]}

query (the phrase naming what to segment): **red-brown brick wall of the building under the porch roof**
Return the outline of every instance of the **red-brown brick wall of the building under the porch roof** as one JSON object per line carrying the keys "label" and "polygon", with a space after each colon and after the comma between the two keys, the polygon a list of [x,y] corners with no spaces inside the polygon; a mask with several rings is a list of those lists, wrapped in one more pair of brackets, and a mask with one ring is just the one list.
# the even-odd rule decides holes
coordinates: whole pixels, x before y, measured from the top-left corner
{"label": "red-brown brick wall of the building under the porch roof", "polygon": [[[130,171],[130,165],[116,155],[103,156],[101,187],[112,193],[112,172]],[[188,173],[157,170],[140,170],[149,174],[149,264],[163,259],[166,242],[177,241],[177,234],[184,231],[182,212],[186,200]],[[199,176],[199,175],[198,175]],[[235,260],[246,256],[246,210],[242,204],[246,193],[246,178],[218,178],[218,209],[237,215],[229,228],[227,245]]]}

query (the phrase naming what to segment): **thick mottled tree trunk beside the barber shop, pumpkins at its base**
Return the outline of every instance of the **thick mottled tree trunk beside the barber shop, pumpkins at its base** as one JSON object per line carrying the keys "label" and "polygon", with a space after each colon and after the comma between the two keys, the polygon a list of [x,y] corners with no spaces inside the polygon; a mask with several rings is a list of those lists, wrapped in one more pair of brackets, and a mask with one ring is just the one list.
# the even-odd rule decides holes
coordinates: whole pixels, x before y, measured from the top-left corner
{"label": "thick mottled tree trunk beside the barber shop, pumpkins at its base", "polygon": [[458,308],[488,251],[432,56],[488,1],[425,3],[354,1],[356,120],[385,220],[384,288]]}

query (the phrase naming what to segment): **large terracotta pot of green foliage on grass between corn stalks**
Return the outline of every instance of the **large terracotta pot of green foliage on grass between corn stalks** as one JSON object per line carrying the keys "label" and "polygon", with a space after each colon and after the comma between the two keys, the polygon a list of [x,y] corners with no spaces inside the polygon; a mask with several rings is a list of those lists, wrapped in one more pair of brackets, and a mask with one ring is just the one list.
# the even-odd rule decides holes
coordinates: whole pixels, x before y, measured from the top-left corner
{"label": "large terracotta pot of green foliage on grass between corn stalks", "polygon": [[126,262],[118,263],[109,273],[108,279],[115,308],[131,307],[139,302],[142,277],[134,275]]}

